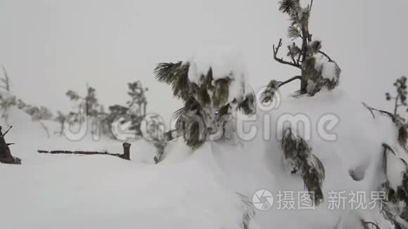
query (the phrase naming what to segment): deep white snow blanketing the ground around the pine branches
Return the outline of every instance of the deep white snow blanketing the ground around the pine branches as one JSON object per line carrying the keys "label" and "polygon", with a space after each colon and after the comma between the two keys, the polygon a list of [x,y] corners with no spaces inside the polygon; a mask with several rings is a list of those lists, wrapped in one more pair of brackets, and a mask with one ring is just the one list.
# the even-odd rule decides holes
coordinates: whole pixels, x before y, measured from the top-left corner
{"label": "deep white snow blanketing the ground around the pine branches", "polygon": [[[108,138],[47,139],[39,124],[13,110],[9,122],[14,128],[6,140],[16,143],[11,150],[23,164],[0,164],[1,228],[236,229],[243,216],[237,192],[252,199],[262,189],[272,192],[275,202],[267,211],[256,210],[250,229],[350,228],[349,218],[357,213],[366,221],[378,221],[381,228],[390,228],[378,209],[354,214],[346,202],[345,210],[331,210],[328,198],[331,191],[378,188],[382,143],[407,159],[388,117],[375,113],[374,119],[361,101],[340,89],[321,91],[312,98],[282,98],[277,109],[258,110],[258,120],[246,123],[258,127],[252,140],[241,140],[238,145],[208,142],[195,151],[182,140],[174,140],[157,165],[153,164],[155,148],[144,140],[132,143],[132,161],[98,155],[40,155],[38,149],[122,152],[122,146]],[[310,120],[307,142],[326,169],[325,201],[315,210],[283,210],[276,202],[279,191],[304,190],[302,180],[284,169],[276,140],[276,123],[283,114],[306,114]],[[340,119],[332,131],[336,140],[324,140],[317,131],[324,114]],[[269,124],[262,117],[270,117]],[[264,140],[263,131],[269,133],[269,140]],[[352,180],[350,170],[362,173],[362,181]]]}

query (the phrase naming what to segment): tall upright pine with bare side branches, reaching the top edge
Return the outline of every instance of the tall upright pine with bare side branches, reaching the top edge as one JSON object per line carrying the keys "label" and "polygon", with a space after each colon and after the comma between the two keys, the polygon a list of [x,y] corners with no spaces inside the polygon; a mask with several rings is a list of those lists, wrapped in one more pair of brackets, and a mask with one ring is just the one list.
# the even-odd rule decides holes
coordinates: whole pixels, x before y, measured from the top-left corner
{"label": "tall upright pine with bare side branches, reaching the top edge", "polygon": [[278,45],[273,46],[274,60],[298,68],[300,75],[283,82],[270,81],[267,89],[262,93],[264,103],[273,100],[276,90],[295,79],[300,80],[300,90],[297,94],[308,93],[313,96],[324,87],[332,90],[338,86],[340,67],[321,50],[321,41],[313,40],[309,30],[312,5],[313,0],[305,7],[301,6],[300,0],[279,1],[279,11],[288,14],[291,20],[291,25],[288,27],[288,37],[293,40],[293,43],[287,46],[287,55],[290,60],[286,61],[278,57],[282,46],[282,39],[280,39]]}

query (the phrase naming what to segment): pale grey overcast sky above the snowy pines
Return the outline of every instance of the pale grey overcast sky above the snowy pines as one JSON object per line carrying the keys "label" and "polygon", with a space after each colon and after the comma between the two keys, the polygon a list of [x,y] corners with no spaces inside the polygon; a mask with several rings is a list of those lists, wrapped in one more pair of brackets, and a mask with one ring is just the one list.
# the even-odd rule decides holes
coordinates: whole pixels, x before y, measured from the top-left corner
{"label": "pale grey overcast sky above the snowy pines", "polygon": [[[407,9],[407,0],[314,0],[310,30],[358,100],[386,107],[385,91],[408,75]],[[148,112],[168,118],[179,103],[155,81],[156,63],[232,44],[257,89],[298,74],[272,61],[287,26],[276,0],[1,0],[0,63],[29,103],[66,112],[65,91],[83,93],[88,82],[104,105],[125,104],[126,83],[140,79],[150,89]]]}

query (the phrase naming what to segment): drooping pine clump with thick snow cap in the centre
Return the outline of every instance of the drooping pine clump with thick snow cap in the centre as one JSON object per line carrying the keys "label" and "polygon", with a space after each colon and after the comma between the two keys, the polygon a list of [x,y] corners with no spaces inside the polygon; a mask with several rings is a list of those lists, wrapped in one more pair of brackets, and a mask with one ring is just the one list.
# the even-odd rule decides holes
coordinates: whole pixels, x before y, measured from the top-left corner
{"label": "drooping pine clump with thick snow cap in the centre", "polygon": [[198,148],[210,136],[232,138],[234,114],[255,112],[255,93],[246,85],[243,72],[224,65],[226,60],[213,61],[160,63],[154,71],[156,79],[170,84],[173,95],[184,102],[174,113],[176,129],[191,148]]}

